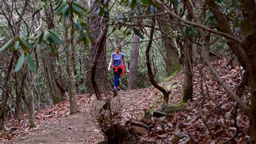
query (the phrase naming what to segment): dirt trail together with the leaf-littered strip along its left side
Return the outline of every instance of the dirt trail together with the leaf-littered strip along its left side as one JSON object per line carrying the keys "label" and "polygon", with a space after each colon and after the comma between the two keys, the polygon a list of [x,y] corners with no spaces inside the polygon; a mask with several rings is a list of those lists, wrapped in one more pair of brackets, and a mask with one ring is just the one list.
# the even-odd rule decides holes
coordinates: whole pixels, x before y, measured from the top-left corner
{"label": "dirt trail together with the leaf-littered strip along its left side", "polygon": [[[143,108],[151,107],[153,95],[151,98],[148,97],[147,91],[149,90],[121,91],[120,97],[114,98],[120,100],[123,107],[122,123],[140,118],[144,114]],[[102,141],[104,137],[97,126],[96,114],[105,101],[97,101],[95,95],[89,97],[83,94],[78,95],[77,102],[80,112],[73,115],[69,115],[68,100],[42,109],[41,112],[35,114],[36,128],[29,127],[26,114],[22,116],[21,121],[12,119],[7,127],[18,129],[0,139],[2,142],[7,142],[9,139],[8,142],[14,143],[96,143]]]}

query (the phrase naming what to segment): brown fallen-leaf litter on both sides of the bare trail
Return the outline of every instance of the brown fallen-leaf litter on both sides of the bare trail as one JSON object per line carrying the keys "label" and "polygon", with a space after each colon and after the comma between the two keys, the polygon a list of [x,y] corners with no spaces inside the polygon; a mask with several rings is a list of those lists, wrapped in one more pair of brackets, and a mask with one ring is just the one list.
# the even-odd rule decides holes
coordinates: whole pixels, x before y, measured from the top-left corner
{"label": "brown fallen-leaf litter on both sides of the bare trail", "polygon": [[[233,63],[228,65],[226,59],[212,60],[212,64],[217,68],[222,78],[229,84],[233,90],[240,85],[242,81],[242,74],[240,65]],[[162,97],[161,93],[156,88],[149,87],[139,89],[146,93],[153,104],[143,107],[145,113],[147,112],[150,117],[145,118],[141,114],[133,116],[130,121],[138,121],[146,126],[148,129],[143,131],[142,135],[136,134],[134,142],[199,142],[199,143],[247,143],[250,141],[249,120],[241,108],[236,107],[236,103],[228,95],[224,88],[218,84],[217,80],[212,76],[210,71],[205,66],[194,66],[194,80],[193,80],[193,101],[188,101],[185,104],[185,109],[182,112],[173,112],[172,118],[156,118],[152,116],[152,111],[160,111]],[[199,71],[201,68],[201,72]],[[163,87],[168,87],[173,82],[178,82],[172,88],[170,94],[169,105],[179,106],[182,100],[183,93],[184,71],[181,70],[176,77],[168,78],[162,83]],[[200,87],[200,83],[202,87]],[[203,92],[202,92],[203,90]],[[124,92],[125,93],[125,92]],[[139,97],[138,97],[139,98]],[[241,99],[249,105],[250,101],[250,87],[245,86],[241,94]],[[78,95],[77,102],[79,109],[86,109],[88,104],[96,101],[95,97],[89,97],[88,94]],[[138,101],[141,102],[141,101]],[[122,113],[124,116],[127,113]],[[34,115],[36,128],[30,128],[27,114],[24,113],[21,119],[8,118],[5,122],[6,127],[15,127],[16,130],[8,135],[2,135],[0,138],[2,142],[11,140],[18,135],[29,133],[39,129],[40,126],[49,124],[52,121],[57,121],[69,115],[68,99],[60,104],[42,109]],[[117,113],[112,113],[114,116],[119,116]],[[99,119],[98,119],[99,120]],[[124,133],[130,132],[124,124],[128,124],[127,120],[114,123],[118,125]],[[120,125],[120,127],[119,127]],[[126,129],[123,129],[126,128]],[[236,135],[236,131],[238,133]],[[234,139],[231,139],[232,136]],[[134,137],[135,138],[135,137]],[[137,139],[138,138],[138,139]]]}

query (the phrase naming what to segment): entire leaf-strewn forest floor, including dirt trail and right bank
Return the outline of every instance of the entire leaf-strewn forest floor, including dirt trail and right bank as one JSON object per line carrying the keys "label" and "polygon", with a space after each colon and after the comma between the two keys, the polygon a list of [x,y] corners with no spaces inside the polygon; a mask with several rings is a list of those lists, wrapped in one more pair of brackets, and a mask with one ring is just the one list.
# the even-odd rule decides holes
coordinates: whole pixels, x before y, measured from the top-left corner
{"label": "entire leaf-strewn forest floor, including dirt trail and right bank", "polygon": [[[242,71],[239,65],[227,66],[228,59],[213,60],[212,63],[220,72],[222,78],[233,90],[241,83]],[[174,112],[173,119],[154,118],[147,121],[149,132],[138,136],[137,142],[163,143],[247,143],[250,141],[248,133],[249,121],[245,113],[238,108],[235,102],[212,76],[208,68],[194,67],[193,101],[185,104],[185,111]],[[201,79],[203,78],[203,79]],[[173,78],[166,78],[160,85],[164,88],[173,82],[169,104],[180,106],[183,98],[183,70]],[[200,83],[203,83],[200,87]],[[202,92],[203,90],[203,92]],[[110,94],[109,94],[110,95]],[[152,112],[160,111],[162,95],[156,88],[121,91],[113,101],[119,101],[122,117],[120,123],[128,120],[142,121],[145,109]],[[105,97],[104,97],[105,98]],[[250,104],[250,87],[245,86],[241,99]],[[79,113],[69,115],[68,98],[62,103],[42,109],[34,115],[36,128],[30,128],[27,114],[17,120],[6,121],[6,127],[17,129],[9,133],[0,133],[0,142],[30,143],[96,143],[104,139],[97,123],[97,113],[105,101],[97,101],[95,95],[78,95]],[[235,121],[236,124],[235,125]],[[234,139],[232,135],[238,129]]]}

